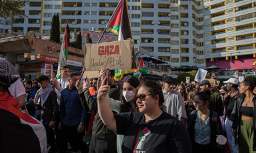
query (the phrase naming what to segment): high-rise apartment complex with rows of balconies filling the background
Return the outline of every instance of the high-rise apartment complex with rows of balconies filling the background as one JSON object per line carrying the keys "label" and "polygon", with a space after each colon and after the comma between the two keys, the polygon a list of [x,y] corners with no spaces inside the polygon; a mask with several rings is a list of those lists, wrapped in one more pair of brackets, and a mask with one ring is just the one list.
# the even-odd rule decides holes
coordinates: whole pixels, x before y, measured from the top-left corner
{"label": "high-rise apartment complex with rows of balconies filling the background", "polygon": [[[31,0],[24,9],[28,18],[17,19],[13,30],[49,35],[54,13],[59,13],[61,32],[67,21],[71,32],[103,30],[118,2]],[[230,69],[235,75],[239,65],[256,57],[254,0],[127,0],[127,5],[135,48],[147,49],[171,68],[216,65],[222,75]],[[10,22],[1,19],[0,33],[10,28]]]}

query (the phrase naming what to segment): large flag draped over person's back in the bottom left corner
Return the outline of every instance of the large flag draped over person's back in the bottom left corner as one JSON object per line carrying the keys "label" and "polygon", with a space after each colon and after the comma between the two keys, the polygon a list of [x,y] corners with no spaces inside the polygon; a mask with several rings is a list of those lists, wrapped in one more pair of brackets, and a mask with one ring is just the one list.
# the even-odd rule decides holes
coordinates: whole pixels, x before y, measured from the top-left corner
{"label": "large flag draped over person's back in the bottom left corner", "polygon": [[0,152],[47,153],[45,127],[19,110],[19,101],[0,92]]}

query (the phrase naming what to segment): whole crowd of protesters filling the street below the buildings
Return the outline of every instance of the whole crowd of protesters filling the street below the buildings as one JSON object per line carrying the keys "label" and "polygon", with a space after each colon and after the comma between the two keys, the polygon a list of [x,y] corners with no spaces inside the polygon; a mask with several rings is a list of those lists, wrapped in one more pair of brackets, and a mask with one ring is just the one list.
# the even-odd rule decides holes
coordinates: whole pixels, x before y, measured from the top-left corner
{"label": "whole crowd of protesters filling the street below the buildings", "polygon": [[0,58],[0,152],[256,152],[256,77],[213,86],[114,75],[64,66],[59,79],[21,80]]}

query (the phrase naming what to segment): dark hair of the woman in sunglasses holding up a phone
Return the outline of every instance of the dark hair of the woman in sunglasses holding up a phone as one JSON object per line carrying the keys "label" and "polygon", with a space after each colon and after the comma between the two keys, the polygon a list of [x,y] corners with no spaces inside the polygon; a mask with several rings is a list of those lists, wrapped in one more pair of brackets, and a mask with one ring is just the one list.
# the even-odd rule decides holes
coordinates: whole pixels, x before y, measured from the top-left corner
{"label": "dark hair of the woman in sunglasses holding up a phone", "polygon": [[165,98],[163,97],[163,91],[162,91],[162,87],[155,82],[154,80],[146,80],[145,82],[143,82],[143,84],[139,85],[136,89],[136,94],[139,90],[140,87],[144,87],[147,88],[147,90],[149,90],[149,92],[152,95],[153,98],[155,98],[156,95],[159,96],[159,106],[163,105],[163,102],[165,102]]}

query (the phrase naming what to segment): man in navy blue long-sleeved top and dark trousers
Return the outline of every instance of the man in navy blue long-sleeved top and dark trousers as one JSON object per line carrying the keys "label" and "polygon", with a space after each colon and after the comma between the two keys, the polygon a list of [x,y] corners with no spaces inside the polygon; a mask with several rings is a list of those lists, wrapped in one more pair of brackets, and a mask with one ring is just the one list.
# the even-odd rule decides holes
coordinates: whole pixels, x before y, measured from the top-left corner
{"label": "man in navy blue long-sleeved top and dark trousers", "polygon": [[60,123],[59,130],[61,130],[61,147],[59,152],[67,152],[67,142],[72,146],[73,150],[77,152],[86,152],[85,144],[83,143],[83,132],[85,130],[85,118],[87,110],[83,108],[79,99],[75,83],[79,80],[79,75],[76,73],[69,73],[67,88],[61,91],[61,105],[60,105]]}

